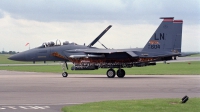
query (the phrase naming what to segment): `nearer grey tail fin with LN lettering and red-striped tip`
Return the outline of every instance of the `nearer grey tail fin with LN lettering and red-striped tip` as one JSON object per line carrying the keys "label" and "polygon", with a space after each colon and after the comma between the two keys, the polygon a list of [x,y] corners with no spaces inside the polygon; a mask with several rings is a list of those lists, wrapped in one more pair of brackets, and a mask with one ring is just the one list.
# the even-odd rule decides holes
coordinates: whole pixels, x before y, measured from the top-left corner
{"label": "nearer grey tail fin with LN lettering and red-striped tip", "polygon": [[160,26],[153,33],[142,51],[162,52],[172,51],[174,47],[173,22],[174,17],[162,17]]}

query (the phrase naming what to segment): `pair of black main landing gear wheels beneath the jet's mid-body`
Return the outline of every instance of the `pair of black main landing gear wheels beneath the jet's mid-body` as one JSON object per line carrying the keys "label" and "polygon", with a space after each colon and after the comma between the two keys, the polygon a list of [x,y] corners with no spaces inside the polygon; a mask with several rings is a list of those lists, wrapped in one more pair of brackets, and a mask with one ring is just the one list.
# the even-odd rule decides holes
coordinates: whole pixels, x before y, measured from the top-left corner
{"label": "pair of black main landing gear wheels beneath the jet's mid-body", "polygon": [[[113,70],[112,68],[110,68],[108,71],[107,71],[107,77],[108,78],[114,78],[115,77],[115,70]],[[124,76],[125,76],[125,71],[124,71],[124,69],[121,69],[121,68],[119,68],[118,70],[117,70],[117,76],[119,77],[119,78],[123,78]]]}

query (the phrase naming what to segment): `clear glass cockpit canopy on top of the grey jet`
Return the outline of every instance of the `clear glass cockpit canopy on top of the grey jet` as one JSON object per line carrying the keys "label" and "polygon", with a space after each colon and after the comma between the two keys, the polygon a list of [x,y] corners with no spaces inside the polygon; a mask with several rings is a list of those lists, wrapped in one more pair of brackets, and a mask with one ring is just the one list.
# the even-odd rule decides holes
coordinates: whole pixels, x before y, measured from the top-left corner
{"label": "clear glass cockpit canopy on top of the grey jet", "polygon": [[50,41],[44,42],[39,48],[62,46],[62,45],[77,45],[77,44],[70,41],[63,41],[63,40],[56,39],[56,40],[50,40]]}

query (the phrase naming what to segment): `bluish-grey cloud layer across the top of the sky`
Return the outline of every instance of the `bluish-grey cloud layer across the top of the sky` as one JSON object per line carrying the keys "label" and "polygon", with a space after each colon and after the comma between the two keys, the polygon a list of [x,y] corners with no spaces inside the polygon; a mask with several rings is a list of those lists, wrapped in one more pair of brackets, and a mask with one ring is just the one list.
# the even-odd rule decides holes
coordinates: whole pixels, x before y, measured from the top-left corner
{"label": "bluish-grey cloud layer across the top of the sky", "polygon": [[174,16],[195,24],[200,19],[199,6],[199,0],[1,0],[0,9],[16,19],[42,22],[152,24],[155,18]]}

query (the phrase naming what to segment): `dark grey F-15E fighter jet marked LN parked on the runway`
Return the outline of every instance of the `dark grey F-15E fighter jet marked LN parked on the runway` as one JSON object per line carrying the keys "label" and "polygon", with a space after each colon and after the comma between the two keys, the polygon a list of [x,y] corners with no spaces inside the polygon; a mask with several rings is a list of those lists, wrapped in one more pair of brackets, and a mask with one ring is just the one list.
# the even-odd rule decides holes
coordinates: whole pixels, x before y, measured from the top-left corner
{"label": "dark grey F-15E fighter jet marked LN parked on the runway", "polygon": [[[72,70],[95,70],[109,68],[108,78],[125,76],[123,68],[156,65],[156,61],[176,59],[181,54],[183,20],[174,17],[161,17],[160,26],[153,33],[144,48],[131,49],[100,49],[92,47],[112,26],[108,26],[88,46],[77,45],[68,41],[43,43],[42,46],[11,56],[16,61],[61,61],[63,63],[63,77],[67,77],[67,62],[72,62]],[[113,68],[118,68],[117,73]]]}

